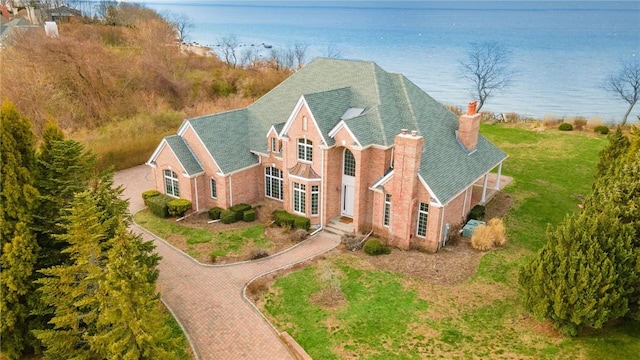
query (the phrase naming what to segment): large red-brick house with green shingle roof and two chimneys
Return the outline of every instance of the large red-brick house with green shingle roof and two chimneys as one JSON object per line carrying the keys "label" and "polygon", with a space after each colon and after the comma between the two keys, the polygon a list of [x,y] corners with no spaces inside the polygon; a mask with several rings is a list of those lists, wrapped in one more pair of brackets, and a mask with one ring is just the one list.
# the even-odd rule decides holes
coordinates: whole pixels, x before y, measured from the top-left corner
{"label": "large red-brick house with green shingle roof and two chimneys", "polygon": [[475,103],[458,118],[401,74],[320,58],[244,109],[185,120],[147,164],[194,211],[272,202],[436,251],[496,168],[499,190],[507,156],[479,124]]}

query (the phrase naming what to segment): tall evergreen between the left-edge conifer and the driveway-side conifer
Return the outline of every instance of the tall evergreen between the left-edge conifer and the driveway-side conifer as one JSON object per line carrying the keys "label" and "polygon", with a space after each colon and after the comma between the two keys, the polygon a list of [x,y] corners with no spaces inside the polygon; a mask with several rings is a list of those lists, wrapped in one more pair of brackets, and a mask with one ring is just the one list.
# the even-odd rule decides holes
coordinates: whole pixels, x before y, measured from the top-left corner
{"label": "tall evergreen between the left-edge conifer and the driveway-side conifer", "polygon": [[103,279],[107,229],[100,221],[104,214],[91,195],[85,191],[75,196],[63,223],[65,233],[57,235],[68,243],[63,252],[69,255],[70,263],[40,270],[46,277],[37,280],[42,299],[55,310],[53,329],[34,331],[46,346],[46,358],[100,358],[89,341],[96,333],[96,294]]}

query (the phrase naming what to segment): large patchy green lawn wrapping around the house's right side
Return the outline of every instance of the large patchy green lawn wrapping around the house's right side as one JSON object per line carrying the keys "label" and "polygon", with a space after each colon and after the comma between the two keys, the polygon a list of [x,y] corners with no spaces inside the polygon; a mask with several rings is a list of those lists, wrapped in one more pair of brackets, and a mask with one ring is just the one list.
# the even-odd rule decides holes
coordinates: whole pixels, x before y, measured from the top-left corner
{"label": "large patchy green lawn wrapping around the house's right side", "polygon": [[347,253],[276,280],[266,315],[314,359],[630,359],[640,323],[610,324],[576,338],[536,321],[521,304],[518,269],[545,242],[548,226],[578,210],[589,192],[603,136],[483,126],[509,154],[504,220],[509,244],[487,253],[454,285],[380,271]]}

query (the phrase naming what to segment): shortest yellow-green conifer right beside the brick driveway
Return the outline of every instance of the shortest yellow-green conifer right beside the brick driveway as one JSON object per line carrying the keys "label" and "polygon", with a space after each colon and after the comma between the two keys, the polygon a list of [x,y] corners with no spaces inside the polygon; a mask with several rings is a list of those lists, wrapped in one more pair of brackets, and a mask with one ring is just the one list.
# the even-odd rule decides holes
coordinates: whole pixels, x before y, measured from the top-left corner
{"label": "shortest yellow-green conifer right beside the brick driveway", "polygon": [[175,358],[177,344],[157,312],[159,257],[151,252],[151,243],[128,232],[123,221],[109,243],[93,346],[108,359]]}

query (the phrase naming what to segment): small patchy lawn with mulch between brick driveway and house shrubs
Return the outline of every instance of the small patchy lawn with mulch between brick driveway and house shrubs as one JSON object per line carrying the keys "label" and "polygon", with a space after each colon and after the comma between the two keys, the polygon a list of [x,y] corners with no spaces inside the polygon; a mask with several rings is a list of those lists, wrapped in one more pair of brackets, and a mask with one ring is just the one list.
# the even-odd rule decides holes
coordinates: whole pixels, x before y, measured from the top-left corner
{"label": "small patchy lawn with mulch between brick driveway and house shrubs", "polygon": [[207,214],[193,216],[183,222],[162,219],[148,210],[135,214],[134,220],[171,245],[202,263],[232,263],[249,260],[254,251],[262,249],[269,254],[293,245],[290,237],[279,228],[267,228],[259,222],[208,224]]}

